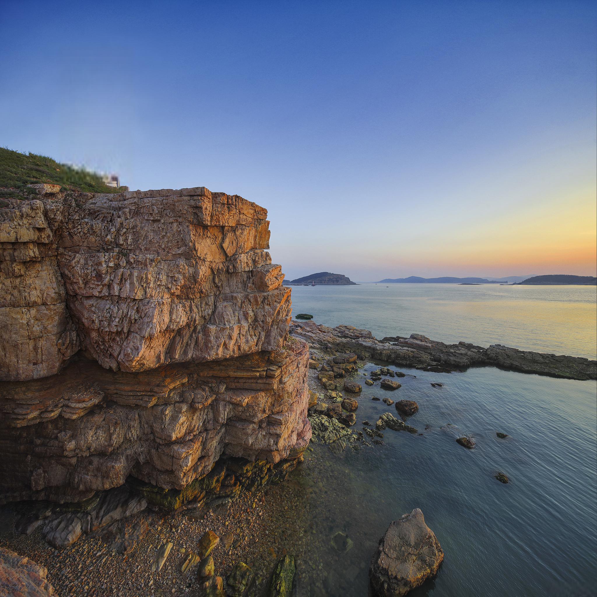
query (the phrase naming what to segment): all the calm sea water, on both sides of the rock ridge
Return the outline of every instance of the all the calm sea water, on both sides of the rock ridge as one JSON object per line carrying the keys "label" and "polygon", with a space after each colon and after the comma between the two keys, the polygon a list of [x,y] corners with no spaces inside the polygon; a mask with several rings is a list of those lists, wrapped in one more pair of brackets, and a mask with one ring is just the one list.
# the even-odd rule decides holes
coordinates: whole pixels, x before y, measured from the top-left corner
{"label": "all the calm sea water, on both sides of the rock ridge", "polygon": [[[350,324],[377,337],[417,332],[448,342],[501,343],[595,358],[595,287],[386,285],[293,287],[294,313]],[[367,364],[366,378],[377,365]],[[597,590],[597,385],[473,368],[404,367],[395,392],[362,383],[357,424],[412,399],[422,435],[384,431],[384,445],[333,454],[312,444],[289,481],[304,488],[313,548],[300,595],[367,595],[368,567],[391,521],[423,510],[445,560],[411,595],[584,596]],[[434,381],[441,388],[430,385]],[[507,433],[498,439],[496,432]],[[471,435],[474,450],[456,443]],[[504,472],[507,485],[494,475]],[[334,533],[354,543],[330,546]]]}

